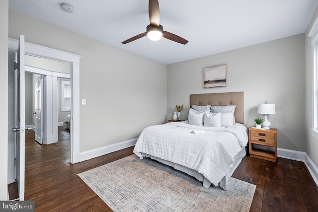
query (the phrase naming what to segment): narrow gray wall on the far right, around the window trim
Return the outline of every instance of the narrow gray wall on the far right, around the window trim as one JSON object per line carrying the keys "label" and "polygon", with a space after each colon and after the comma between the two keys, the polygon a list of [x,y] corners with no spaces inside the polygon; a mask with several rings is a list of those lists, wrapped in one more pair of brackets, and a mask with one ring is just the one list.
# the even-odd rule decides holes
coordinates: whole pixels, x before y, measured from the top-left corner
{"label": "narrow gray wall on the far right, around the window trim", "polygon": [[306,129],[306,135],[304,140],[306,141],[306,152],[310,156],[310,158],[315,163],[316,167],[318,167],[318,141],[312,136],[311,128],[313,123],[313,113],[312,113],[312,45],[311,45],[311,38],[308,37],[308,33],[310,32],[311,28],[313,27],[313,24],[315,20],[318,17],[318,8],[316,8],[316,11],[312,17],[312,20],[307,28],[306,31],[306,77],[305,77],[305,111],[306,111],[306,122],[305,122],[305,129]]}

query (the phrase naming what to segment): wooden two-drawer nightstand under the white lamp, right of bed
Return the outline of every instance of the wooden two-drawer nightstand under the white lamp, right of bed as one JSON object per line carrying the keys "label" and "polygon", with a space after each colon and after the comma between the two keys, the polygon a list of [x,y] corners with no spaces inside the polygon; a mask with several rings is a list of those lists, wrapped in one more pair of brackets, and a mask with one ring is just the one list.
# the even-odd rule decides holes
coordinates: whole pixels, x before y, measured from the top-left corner
{"label": "wooden two-drawer nightstand under the white lamp, right of bed", "polygon": [[[255,128],[249,128],[248,130],[249,140],[249,154],[251,157],[259,159],[269,160],[276,162],[277,160],[277,129],[258,130]],[[274,147],[274,151],[266,149],[260,149],[254,147],[253,144]]]}

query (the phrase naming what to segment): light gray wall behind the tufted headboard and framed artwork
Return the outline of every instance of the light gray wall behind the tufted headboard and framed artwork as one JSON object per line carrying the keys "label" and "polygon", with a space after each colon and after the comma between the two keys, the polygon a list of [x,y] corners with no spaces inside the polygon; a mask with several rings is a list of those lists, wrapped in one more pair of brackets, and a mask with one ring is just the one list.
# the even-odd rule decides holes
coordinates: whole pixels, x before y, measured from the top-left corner
{"label": "light gray wall behind the tufted headboard and framed artwork", "polygon": [[[244,92],[244,124],[254,126],[257,104],[276,104],[269,116],[278,129],[278,147],[306,151],[305,137],[305,35],[299,34],[220,54],[167,66],[167,118],[175,105],[185,106],[187,118],[189,94]],[[227,87],[204,89],[204,68],[227,65]]]}

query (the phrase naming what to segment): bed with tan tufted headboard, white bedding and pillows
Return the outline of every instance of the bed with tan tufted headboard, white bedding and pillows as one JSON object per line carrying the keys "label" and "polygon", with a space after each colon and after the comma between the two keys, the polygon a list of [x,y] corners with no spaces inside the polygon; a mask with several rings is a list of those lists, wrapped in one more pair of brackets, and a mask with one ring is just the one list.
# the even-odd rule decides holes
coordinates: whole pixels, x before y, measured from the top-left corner
{"label": "bed with tan tufted headboard, white bedding and pillows", "polygon": [[246,155],[248,142],[243,92],[191,94],[190,106],[186,121],[145,128],[134,153],[185,172],[204,188],[213,184],[228,190],[227,182]]}

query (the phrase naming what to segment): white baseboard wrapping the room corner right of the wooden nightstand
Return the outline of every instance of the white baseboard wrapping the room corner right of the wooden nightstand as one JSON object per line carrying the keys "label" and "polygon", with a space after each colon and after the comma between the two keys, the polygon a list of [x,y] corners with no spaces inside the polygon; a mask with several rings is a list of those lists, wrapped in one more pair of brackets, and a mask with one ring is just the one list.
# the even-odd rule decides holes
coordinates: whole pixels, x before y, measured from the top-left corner
{"label": "white baseboard wrapping the room corner right of the wooden nightstand", "polygon": [[304,162],[318,186],[318,168],[306,152],[277,148],[277,157]]}

